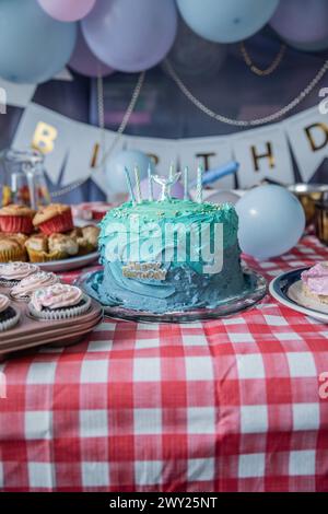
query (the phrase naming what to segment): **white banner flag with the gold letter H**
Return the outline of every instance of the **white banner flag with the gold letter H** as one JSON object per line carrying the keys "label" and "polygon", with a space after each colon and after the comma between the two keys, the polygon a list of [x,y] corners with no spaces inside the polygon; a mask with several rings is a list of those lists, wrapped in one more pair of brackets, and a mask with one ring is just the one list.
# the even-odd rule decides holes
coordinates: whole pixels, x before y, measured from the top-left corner
{"label": "white banner flag with the gold letter H", "polygon": [[265,178],[281,184],[294,182],[286,136],[279,125],[232,136],[232,145],[241,165],[239,187],[255,186]]}

